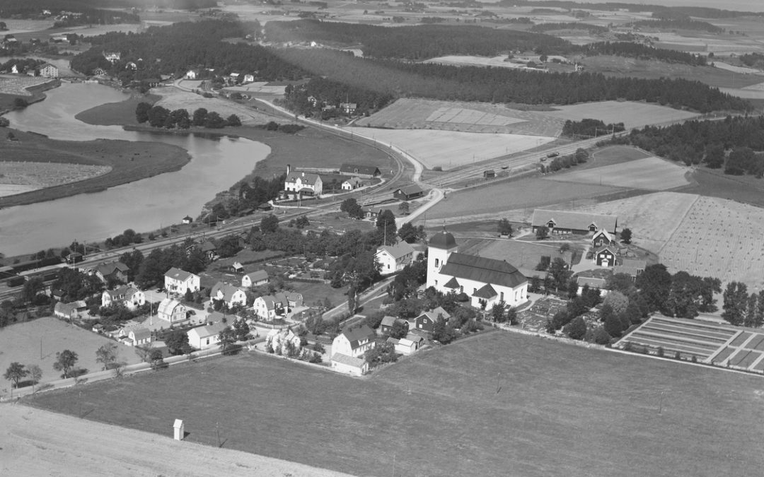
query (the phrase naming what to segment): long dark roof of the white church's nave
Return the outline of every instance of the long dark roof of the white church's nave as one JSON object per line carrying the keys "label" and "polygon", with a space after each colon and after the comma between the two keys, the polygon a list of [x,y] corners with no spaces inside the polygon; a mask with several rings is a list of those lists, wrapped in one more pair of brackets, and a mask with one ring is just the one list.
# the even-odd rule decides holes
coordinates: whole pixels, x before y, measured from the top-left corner
{"label": "long dark roof of the white church's nave", "polygon": [[503,260],[454,252],[440,269],[441,275],[514,288],[528,279]]}

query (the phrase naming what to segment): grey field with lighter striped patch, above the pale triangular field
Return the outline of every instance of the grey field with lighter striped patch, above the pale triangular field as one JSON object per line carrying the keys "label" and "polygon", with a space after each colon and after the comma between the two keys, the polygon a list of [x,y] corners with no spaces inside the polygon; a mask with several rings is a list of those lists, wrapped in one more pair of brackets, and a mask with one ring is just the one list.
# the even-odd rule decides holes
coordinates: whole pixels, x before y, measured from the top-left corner
{"label": "grey field with lighter striped patch, above the pale triangular field", "polygon": [[504,105],[400,98],[355,124],[392,129],[558,136],[564,122],[536,111],[520,111]]}

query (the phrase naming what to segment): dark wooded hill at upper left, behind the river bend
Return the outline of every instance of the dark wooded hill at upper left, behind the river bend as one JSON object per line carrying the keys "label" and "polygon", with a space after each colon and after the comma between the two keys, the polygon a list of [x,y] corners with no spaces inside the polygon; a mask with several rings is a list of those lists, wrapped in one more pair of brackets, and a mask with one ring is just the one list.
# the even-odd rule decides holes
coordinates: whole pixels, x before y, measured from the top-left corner
{"label": "dark wooded hill at upper left, behind the river bend", "polygon": [[[150,27],[142,34],[112,32],[92,37],[92,48],[74,56],[71,66],[86,74],[102,68],[119,76],[123,82],[160,74],[183,76],[188,69],[196,67],[213,68],[217,74],[251,72],[266,81],[295,80],[306,75],[302,69],[281,60],[273,50],[221,41],[228,37],[244,37],[246,32],[238,22],[219,20]],[[109,63],[103,57],[103,51],[122,52],[121,60]],[[136,63],[138,69],[126,68],[128,62]]]}

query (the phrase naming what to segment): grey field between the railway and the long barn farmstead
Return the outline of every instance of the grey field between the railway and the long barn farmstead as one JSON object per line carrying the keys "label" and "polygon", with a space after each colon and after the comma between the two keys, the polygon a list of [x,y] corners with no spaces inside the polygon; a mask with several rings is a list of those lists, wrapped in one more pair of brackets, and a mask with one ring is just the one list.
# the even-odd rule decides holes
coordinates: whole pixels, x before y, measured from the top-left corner
{"label": "grey field between the railway and the long barn farmstead", "polygon": [[[546,179],[522,179],[500,182],[485,187],[452,192],[435,207],[427,211],[428,219],[469,216],[471,221],[496,218],[497,214],[511,221],[525,222],[533,209],[560,202],[575,201],[578,206],[593,203],[591,198],[617,192],[607,185],[555,182]],[[507,214],[512,211],[511,214]],[[635,234],[636,237],[636,234]]]}

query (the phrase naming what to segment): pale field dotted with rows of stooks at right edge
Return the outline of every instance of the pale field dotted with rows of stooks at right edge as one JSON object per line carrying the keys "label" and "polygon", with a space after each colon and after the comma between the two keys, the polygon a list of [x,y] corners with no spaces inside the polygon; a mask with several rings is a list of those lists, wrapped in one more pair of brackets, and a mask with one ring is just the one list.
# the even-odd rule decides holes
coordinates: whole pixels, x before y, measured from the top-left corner
{"label": "pale field dotted with rows of stooks at right edge", "polygon": [[758,292],[764,285],[762,229],[764,209],[699,197],[659,256],[672,273],[684,270],[722,282],[736,280]]}

